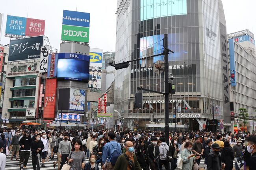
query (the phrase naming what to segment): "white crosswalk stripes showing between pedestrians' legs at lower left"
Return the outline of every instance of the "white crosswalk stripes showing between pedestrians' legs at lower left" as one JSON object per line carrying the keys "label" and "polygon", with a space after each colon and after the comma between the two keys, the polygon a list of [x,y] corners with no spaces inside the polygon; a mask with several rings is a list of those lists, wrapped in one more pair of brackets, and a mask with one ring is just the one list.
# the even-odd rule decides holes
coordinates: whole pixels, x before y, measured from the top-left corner
{"label": "white crosswalk stripes showing between pedestrians' legs at lower left", "polygon": [[[10,159],[11,156],[7,156],[6,160],[6,168],[5,170],[20,170],[19,161],[16,161],[16,158],[13,158],[13,160]],[[54,161],[56,161],[56,155],[54,156]],[[49,160],[49,162],[45,162],[45,168],[41,167],[41,170],[58,170],[58,165],[56,165],[56,168],[53,168],[53,162],[52,160]],[[87,163],[89,159],[85,159],[85,162]],[[42,162],[41,162],[42,163]],[[41,164],[40,164],[41,166]],[[100,168],[100,165],[98,165]],[[27,168],[24,170],[33,170],[32,166],[32,157],[30,155],[28,159]]]}

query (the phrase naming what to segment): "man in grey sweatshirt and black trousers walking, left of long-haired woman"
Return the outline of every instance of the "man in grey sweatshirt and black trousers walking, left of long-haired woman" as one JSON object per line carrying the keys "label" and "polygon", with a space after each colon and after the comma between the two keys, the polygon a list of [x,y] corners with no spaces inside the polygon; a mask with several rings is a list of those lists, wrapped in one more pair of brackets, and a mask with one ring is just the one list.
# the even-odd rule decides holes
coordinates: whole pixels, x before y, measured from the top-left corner
{"label": "man in grey sweatshirt and black trousers walking, left of long-haired woman", "polygon": [[59,143],[58,152],[60,153],[59,157],[61,157],[60,169],[67,161],[67,157],[69,157],[69,153],[71,152],[72,146],[71,146],[71,143],[68,141],[68,139],[69,139],[69,135],[65,133],[64,140]]}

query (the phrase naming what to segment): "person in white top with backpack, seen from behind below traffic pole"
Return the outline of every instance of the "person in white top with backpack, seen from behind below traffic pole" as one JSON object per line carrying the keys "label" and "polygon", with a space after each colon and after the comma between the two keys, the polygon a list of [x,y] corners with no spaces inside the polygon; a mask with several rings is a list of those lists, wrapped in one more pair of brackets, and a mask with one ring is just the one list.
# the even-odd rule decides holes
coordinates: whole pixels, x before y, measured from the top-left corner
{"label": "person in white top with backpack, seen from behind below traffic pole", "polygon": [[160,137],[160,146],[159,146],[159,169],[162,169],[162,166],[165,166],[165,169],[168,169],[169,162],[166,160],[167,158],[167,151],[169,152],[169,146],[165,143],[165,137]]}

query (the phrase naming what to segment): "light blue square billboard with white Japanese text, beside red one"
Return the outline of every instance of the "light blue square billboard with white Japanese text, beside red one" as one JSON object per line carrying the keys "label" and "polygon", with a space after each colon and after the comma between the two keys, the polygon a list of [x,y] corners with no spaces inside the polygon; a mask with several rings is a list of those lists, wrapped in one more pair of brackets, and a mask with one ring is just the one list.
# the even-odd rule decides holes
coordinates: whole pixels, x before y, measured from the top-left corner
{"label": "light blue square billboard with white Japanese text, beside red one", "polygon": [[27,18],[7,15],[6,34],[25,35]]}

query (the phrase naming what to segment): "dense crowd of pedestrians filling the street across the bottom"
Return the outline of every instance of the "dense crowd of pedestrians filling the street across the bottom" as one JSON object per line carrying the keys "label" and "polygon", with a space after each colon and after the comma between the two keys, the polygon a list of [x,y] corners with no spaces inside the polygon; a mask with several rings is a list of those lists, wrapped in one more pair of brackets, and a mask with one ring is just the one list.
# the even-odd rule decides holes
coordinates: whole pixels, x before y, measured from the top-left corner
{"label": "dense crowd of pedestrians filling the street across the bottom", "polygon": [[170,132],[166,141],[165,132],[149,130],[0,129],[0,168],[7,154],[24,169],[31,154],[34,170],[49,159],[58,170],[232,170],[233,161],[236,170],[255,170],[256,135]]}

